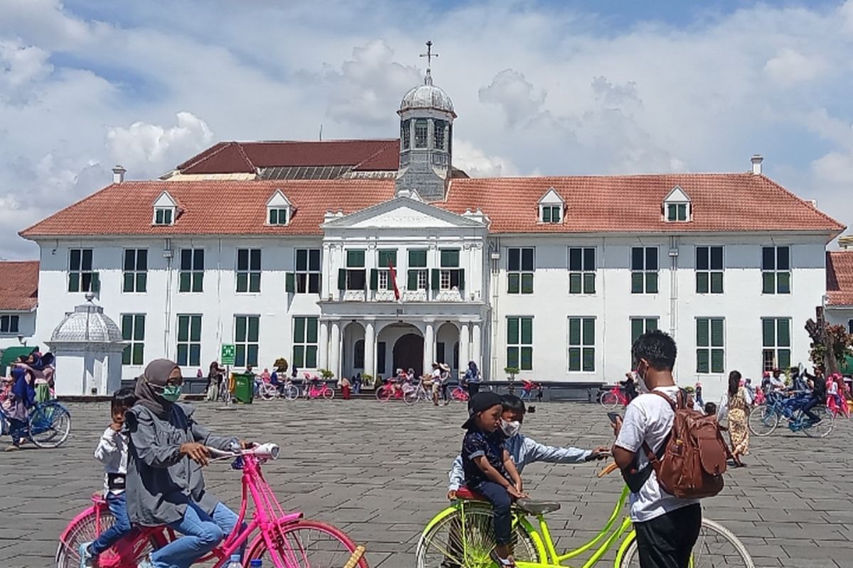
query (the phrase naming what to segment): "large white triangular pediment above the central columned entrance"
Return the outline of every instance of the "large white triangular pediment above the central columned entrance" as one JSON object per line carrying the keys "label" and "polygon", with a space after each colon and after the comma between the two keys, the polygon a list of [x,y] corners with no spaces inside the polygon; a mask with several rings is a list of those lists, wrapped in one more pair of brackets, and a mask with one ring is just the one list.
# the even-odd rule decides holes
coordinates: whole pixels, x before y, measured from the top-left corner
{"label": "large white triangular pediment above the central columned entrance", "polygon": [[485,227],[474,219],[456,215],[434,205],[425,204],[412,198],[393,198],[368,209],[362,209],[327,221],[324,228],[452,228]]}

